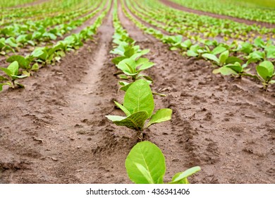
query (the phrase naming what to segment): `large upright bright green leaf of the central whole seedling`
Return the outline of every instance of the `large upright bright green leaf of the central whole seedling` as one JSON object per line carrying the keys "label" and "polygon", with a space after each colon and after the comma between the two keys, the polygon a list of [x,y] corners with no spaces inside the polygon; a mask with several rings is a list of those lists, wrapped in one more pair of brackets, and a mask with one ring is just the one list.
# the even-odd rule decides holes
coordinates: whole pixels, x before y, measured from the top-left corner
{"label": "large upright bright green leaf of the central whole seedling", "polygon": [[132,114],[137,111],[146,111],[151,117],[154,111],[154,98],[149,84],[144,79],[130,85],[124,96],[123,106]]}

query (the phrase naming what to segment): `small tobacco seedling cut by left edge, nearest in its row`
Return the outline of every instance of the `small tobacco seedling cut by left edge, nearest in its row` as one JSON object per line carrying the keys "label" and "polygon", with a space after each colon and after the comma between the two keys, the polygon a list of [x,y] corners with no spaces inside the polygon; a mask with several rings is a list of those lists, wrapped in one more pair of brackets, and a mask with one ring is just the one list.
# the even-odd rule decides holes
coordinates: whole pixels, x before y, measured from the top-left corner
{"label": "small tobacco seedling cut by left edge, nearest in its row", "polygon": [[18,76],[19,65],[18,62],[12,62],[7,68],[0,67],[2,71],[6,73],[9,77],[5,78],[4,76],[0,76],[0,91],[2,91],[3,86],[10,86],[11,88],[16,88],[16,86],[22,88],[24,87],[22,84],[16,82],[18,78],[25,78],[27,76]]}

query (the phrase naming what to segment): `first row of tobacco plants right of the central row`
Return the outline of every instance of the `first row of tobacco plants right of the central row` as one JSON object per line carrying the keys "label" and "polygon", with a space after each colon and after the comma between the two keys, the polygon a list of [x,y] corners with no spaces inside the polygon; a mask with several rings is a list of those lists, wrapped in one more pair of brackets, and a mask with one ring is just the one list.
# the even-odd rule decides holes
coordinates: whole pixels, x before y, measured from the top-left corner
{"label": "first row of tobacco plants right of the central row", "polygon": [[[126,1],[126,3],[129,2]],[[122,1],[122,6],[123,12],[138,28],[168,44],[170,50],[178,50],[185,56],[197,57],[212,62],[212,65],[216,67],[213,71],[214,74],[233,75],[237,78],[241,76],[256,78],[262,82],[264,90],[267,90],[269,84],[275,83],[273,80],[275,76],[274,64],[272,63],[275,59],[275,46],[271,45],[271,42],[264,42],[264,40],[257,38],[254,44],[243,42],[238,45],[238,43],[233,42],[231,45],[227,45],[216,40],[204,40],[204,45],[199,45],[191,40],[183,41],[182,35],[164,35],[159,30],[152,27],[148,28],[128,13],[124,1]],[[128,8],[130,11],[135,12],[129,4]],[[256,67],[255,64],[257,64]],[[254,67],[255,70],[249,73],[248,71]]]}

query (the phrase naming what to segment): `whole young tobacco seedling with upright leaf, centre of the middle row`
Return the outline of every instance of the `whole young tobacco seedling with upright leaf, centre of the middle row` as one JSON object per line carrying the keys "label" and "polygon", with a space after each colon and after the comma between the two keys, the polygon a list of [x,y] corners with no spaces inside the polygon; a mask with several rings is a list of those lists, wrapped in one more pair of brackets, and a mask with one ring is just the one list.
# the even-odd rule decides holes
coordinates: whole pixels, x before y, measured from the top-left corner
{"label": "whole young tobacco seedling with upright leaf, centre of the middle row", "polygon": [[[160,109],[154,112],[154,98],[149,84],[144,79],[132,83],[126,91],[123,105],[114,101],[126,114],[126,117],[117,115],[106,115],[106,117],[118,126],[125,126],[142,132],[143,129],[156,124],[171,120],[171,109]],[[146,120],[149,119],[147,125]]]}

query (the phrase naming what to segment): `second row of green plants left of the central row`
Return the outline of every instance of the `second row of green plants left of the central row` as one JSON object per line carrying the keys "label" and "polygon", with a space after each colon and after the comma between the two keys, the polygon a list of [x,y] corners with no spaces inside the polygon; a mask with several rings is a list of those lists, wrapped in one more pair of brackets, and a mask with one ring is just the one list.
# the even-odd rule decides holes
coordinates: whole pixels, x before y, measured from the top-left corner
{"label": "second row of green plants left of the central row", "polygon": [[[62,23],[61,25],[57,25],[49,30],[47,30],[47,28],[39,28],[39,30],[35,30],[33,33],[30,33],[31,31],[29,30],[29,27],[26,28],[29,33],[21,32],[17,37],[8,37],[7,39],[2,37],[0,38],[0,54],[6,55],[8,52],[15,53],[16,51],[19,51],[19,48],[27,47],[27,45],[35,46],[42,41],[47,42],[50,40],[56,40],[58,37],[63,37],[66,33],[71,32],[71,30],[77,28],[88,19],[94,17],[99,11],[102,10],[102,8],[104,8],[105,4],[106,0],[102,1],[102,5],[98,8],[98,5],[94,4],[92,8],[97,9],[92,11],[92,13],[89,13],[82,18],[71,20],[68,23]],[[13,30],[11,30],[11,33],[13,33]]]}

